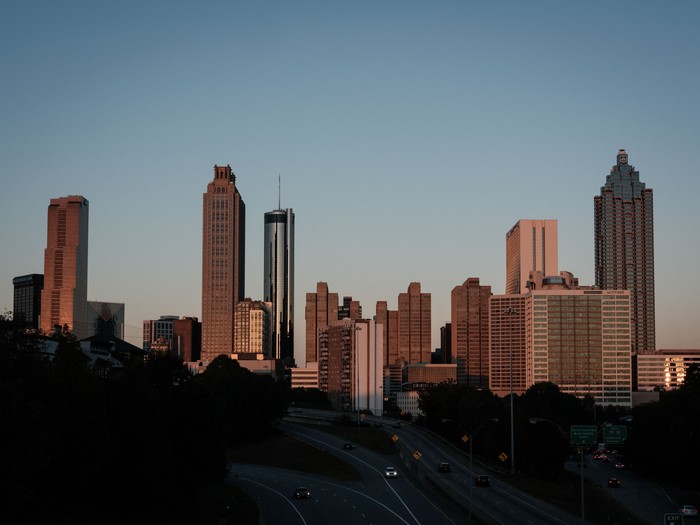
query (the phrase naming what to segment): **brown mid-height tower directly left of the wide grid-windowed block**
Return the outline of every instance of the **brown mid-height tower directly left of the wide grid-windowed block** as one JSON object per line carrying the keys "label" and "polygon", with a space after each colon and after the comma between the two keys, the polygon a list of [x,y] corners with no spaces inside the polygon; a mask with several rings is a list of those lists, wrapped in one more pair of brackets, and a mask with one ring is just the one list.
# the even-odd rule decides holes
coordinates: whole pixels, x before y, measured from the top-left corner
{"label": "brown mid-height tower directly left of the wide grid-windowed block", "polygon": [[472,388],[489,386],[489,298],[491,287],[470,277],[452,289],[452,351],[457,382]]}

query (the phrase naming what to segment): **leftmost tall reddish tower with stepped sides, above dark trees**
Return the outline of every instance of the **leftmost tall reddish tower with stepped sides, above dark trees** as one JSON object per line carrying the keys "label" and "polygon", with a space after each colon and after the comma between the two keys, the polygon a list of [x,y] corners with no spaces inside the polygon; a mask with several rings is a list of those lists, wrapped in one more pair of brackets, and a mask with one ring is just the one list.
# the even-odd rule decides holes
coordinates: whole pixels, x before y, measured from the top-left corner
{"label": "leftmost tall reddish tower with stepped sides, above dark trees", "polygon": [[41,329],[68,326],[78,339],[88,335],[88,201],[80,195],[51,199],[44,250]]}

